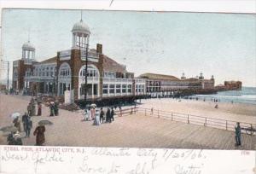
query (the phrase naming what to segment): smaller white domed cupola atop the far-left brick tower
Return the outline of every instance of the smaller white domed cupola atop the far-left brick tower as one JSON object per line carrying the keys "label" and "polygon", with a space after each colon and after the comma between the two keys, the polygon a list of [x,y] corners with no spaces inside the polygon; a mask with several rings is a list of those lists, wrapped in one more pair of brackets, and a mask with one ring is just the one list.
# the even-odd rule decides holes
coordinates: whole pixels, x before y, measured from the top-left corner
{"label": "smaller white domed cupola atop the far-left brick tower", "polygon": [[28,40],[27,43],[22,45],[22,58],[25,63],[32,63],[35,60],[35,47]]}

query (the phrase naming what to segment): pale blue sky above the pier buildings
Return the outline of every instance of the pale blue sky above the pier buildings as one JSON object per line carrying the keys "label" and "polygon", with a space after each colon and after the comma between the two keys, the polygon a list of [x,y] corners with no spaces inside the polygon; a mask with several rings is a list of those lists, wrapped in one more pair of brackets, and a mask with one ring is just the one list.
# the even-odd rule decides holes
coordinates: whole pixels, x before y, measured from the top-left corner
{"label": "pale blue sky above the pier buildings", "polygon": [[[28,35],[37,61],[71,49],[80,16],[80,10],[3,9],[3,59],[20,59]],[[214,75],[216,84],[241,80],[256,87],[256,14],[83,10],[83,20],[90,26],[90,49],[102,44],[104,55],[136,76],[203,73]]]}

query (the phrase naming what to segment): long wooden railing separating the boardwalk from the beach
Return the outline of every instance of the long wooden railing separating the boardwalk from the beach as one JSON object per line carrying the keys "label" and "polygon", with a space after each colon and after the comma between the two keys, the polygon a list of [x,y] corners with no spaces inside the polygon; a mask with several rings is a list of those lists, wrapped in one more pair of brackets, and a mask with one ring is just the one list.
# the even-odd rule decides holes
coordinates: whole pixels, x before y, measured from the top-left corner
{"label": "long wooden railing separating the boardwalk from the beach", "polygon": [[[116,111],[116,116],[127,116],[131,114],[141,113],[145,116],[152,116],[161,119],[171,119],[172,121],[183,122],[193,125],[201,125],[205,127],[218,128],[226,131],[235,131],[236,122],[227,119],[214,119],[193,114],[175,113],[170,111],[162,111],[144,107],[130,107]],[[241,132],[253,135],[256,132],[256,124],[240,122]]]}

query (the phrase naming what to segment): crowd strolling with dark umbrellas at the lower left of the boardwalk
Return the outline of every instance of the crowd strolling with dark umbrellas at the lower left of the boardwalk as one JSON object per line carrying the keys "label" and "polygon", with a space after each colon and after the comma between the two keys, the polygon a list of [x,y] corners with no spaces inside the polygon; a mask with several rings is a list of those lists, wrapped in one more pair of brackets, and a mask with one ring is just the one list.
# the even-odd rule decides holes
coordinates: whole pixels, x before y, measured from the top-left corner
{"label": "crowd strolling with dark umbrellas at the lower left of the boardwalk", "polygon": [[[42,103],[38,102],[38,113],[36,114],[36,102],[32,98],[31,101],[29,102],[27,106],[27,112],[25,112],[20,120],[20,117],[17,116],[13,120],[13,124],[15,126],[14,131],[10,131],[8,137],[7,137],[7,142],[9,145],[22,145],[22,138],[29,138],[31,135],[32,131],[32,116],[40,116],[42,115]],[[22,128],[23,132],[25,132],[25,136],[21,138],[21,124],[20,121],[22,122]],[[45,142],[44,138],[44,132],[45,132],[45,126],[38,124],[36,127],[35,131],[33,131],[33,136],[36,136],[36,145],[37,146],[42,146]]]}

